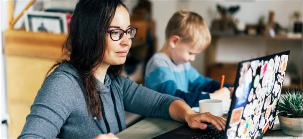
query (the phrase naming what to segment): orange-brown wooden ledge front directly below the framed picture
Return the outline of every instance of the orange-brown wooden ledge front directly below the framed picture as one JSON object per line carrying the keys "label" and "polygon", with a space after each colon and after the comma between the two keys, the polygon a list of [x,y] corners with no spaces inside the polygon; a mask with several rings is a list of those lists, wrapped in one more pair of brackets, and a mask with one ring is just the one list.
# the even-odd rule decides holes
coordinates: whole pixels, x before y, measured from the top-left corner
{"label": "orange-brown wooden ledge front directly below the framed picture", "polygon": [[66,34],[6,30],[4,52],[7,55],[63,59],[65,37]]}

